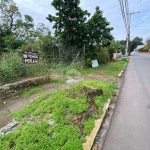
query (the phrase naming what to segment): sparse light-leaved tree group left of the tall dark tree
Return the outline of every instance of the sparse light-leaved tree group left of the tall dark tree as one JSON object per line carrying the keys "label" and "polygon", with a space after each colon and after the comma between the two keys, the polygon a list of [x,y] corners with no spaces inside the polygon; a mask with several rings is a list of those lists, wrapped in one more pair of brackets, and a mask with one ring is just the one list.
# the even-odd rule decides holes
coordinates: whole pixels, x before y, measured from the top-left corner
{"label": "sparse light-leaved tree group left of the tall dark tree", "polygon": [[[29,15],[22,15],[13,0],[0,1],[0,51],[17,49],[27,42],[35,42],[48,34],[44,24],[35,29],[34,20]],[[28,44],[27,44],[28,45]]]}

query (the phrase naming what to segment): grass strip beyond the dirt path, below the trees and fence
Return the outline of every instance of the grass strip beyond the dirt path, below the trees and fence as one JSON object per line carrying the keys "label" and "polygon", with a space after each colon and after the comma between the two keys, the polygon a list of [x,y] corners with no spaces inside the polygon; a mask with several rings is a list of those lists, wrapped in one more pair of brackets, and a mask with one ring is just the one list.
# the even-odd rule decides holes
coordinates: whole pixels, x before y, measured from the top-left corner
{"label": "grass strip beyond the dirt path, below the trees and fence", "polygon": [[87,76],[89,74],[97,73],[97,72],[102,72],[102,74],[109,75],[109,76],[118,76],[118,72],[120,72],[124,65],[128,61],[126,59],[121,60],[119,62],[112,61],[107,64],[100,64],[99,67],[96,68],[81,68],[77,64],[73,64],[70,66],[61,66],[59,68],[56,68],[55,70],[51,70],[50,72],[53,72],[56,74],[56,78],[53,78],[53,75],[51,76],[51,82],[53,83],[64,83],[67,80],[68,76]]}

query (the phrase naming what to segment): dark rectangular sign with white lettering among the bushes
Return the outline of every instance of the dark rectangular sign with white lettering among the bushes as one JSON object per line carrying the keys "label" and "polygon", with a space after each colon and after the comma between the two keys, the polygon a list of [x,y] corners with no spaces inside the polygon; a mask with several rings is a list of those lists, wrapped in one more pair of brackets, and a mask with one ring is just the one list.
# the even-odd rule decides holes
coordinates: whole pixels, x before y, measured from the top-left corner
{"label": "dark rectangular sign with white lettering among the bushes", "polygon": [[27,64],[37,64],[39,62],[38,52],[23,52],[23,63]]}

